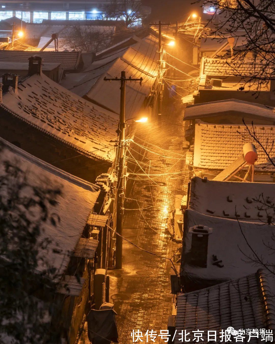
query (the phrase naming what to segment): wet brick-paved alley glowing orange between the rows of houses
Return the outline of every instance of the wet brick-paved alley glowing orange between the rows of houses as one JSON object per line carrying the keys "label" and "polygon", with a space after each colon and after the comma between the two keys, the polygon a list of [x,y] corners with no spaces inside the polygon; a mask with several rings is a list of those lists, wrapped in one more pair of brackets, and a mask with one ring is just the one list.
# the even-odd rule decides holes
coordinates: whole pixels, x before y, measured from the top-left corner
{"label": "wet brick-paved alley glowing orange between the rows of houses", "polygon": [[133,330],[143,335],[147,330],[167,330],[172,314],[173,271],[168,259],[173,259],[181,245],[172,240],[166,223],[175,195],[186,195],[190,173],[185,166],[187,149],[183,148],[179,102],[166,106],[158,123],[137,128],[133,140],[127,154],[130,191],[126,194],[123,236],[136,246],[123,240],[123,268],[109,271],[110,301],[118,313],[121,343],[133,342]]}

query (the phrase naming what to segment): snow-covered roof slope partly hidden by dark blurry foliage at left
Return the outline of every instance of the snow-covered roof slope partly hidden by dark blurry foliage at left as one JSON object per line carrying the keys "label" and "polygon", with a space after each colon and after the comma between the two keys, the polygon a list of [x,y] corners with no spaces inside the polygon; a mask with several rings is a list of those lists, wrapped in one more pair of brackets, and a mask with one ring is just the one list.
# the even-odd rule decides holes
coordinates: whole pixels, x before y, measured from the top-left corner
{"label": "snow-covered roof slope partly hidden by dark blurry foliage at left", "polygon": [[[28,185],[26,197],[36,198],[32,188],[37,190],[38,193],[41,190],[45,194],[48,219],[41,222],[43,232],[41,232],[40,237],[41,240],[49,238],[51,243],[44,250],[40,248],[39,255],[44,258],[49,267],[59,269],[59,273],[62,274],[68,266],[70,256],[73,255],[90,212],[95,205],[99,195],[99,188],[35,158],[2,138],[0,138],[0,145],[1,176],[7,174],[4,164],[8,163],[20,169],[23,181]],[[18,182],[20,182],[20,178],[20,175],[18,175]],[[13,188],[15,185],[9,183],[9,186]],[[1,196],[3,196],[3,192],[7,192],[5,190],[8,189],[1,189]],[[51,202],[51,198],[54,197],[53,194],[49,194],[47,198],[46,195],[49,190],[60,191],[60,193],[55,193],[56,198],[54,201],[57,202],[56,204]],[[21,189],[21,192],[24,192],[23,189]],[[23,197],[24,194],[21,196]],[[30,213],[28,213],[27,209],[29,209]],[[33,212],[32,207],[26,208],[27,218],[33,222],[39,221],[39,214],[34,216]],[[53,220],[51,220],[51,217],[53,217]],[[56,252],[55,249],[61,249],[61,253]],[[43,264],[39,260],[39,270],[43,269]]]}

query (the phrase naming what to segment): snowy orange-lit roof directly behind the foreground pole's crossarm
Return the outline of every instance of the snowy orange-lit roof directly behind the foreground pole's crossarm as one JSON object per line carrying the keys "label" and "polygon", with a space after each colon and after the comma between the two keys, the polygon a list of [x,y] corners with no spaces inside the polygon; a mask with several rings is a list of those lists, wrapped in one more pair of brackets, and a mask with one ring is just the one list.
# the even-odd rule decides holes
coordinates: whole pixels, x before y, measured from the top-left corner
{"label": "snowy orange-lit roof directly behind the foreground pole's crossarm", "polygon": [[[79,96],[85,95],[97,104],[119,113],[120,84],[118,82],[107,83],[103,78],[105,76],[107,78],[120,77],[121,71],[126,72],[126,77],[142,77],[141,85],[139,82],[127,82],[126,84],[126,118],[132,117],[140,110],[156,80],[157,44],[155,41],[153,36],[145,37],[144,40],[126,50],[120,49],[117,53],[113,52],[110,56],[104,56],[101,60],[95,61],[84,73],[81,73],[84,77],[78,79],[79,81],[70,89]],[[64,81],[63,84],[68,86],[70,83]],[[117,93],[115,93],[115,89],[117,89]]]}

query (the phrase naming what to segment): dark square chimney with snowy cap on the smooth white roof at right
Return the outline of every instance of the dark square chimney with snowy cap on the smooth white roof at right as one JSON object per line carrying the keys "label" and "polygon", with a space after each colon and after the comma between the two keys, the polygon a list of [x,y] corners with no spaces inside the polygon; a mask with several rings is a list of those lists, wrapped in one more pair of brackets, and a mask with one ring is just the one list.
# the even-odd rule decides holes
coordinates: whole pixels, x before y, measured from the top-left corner
{"label": "dark square chimney with snowy cap on the smooth white roof at right", "polygon": [[190,227],[188,230],[192,234],[190,261],[192,265],[201,268],[207,267],[208,235],[212,233],[212,228],[198,225]]}

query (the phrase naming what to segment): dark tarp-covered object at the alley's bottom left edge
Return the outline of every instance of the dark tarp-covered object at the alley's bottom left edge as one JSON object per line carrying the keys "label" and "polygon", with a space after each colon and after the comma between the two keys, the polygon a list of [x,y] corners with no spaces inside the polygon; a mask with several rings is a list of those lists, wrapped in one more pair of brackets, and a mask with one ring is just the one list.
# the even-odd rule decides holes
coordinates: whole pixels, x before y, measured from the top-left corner
{"label": "dark tarp-covered object at the alley's bottom left edge", "polygon": [[91,309],[87,316],[88,338],[92,344],[118,343],[118,329],[113,309]]}

